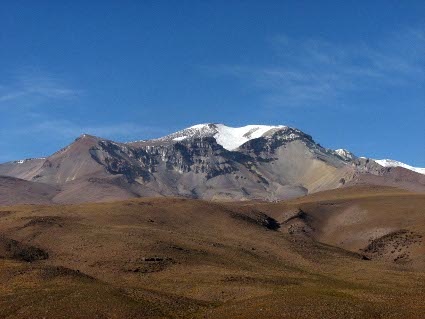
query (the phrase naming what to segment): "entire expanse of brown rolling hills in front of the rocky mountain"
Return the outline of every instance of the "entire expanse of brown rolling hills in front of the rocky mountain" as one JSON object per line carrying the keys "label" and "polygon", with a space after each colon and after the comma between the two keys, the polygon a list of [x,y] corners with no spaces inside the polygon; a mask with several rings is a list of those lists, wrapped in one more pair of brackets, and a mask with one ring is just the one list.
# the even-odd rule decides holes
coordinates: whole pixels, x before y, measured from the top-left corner
{"label": "entire expanse of brown rolling hills in front of the rocky mountain", "polygon": [[425,195],[0,208],[1,318],[420,318]]}

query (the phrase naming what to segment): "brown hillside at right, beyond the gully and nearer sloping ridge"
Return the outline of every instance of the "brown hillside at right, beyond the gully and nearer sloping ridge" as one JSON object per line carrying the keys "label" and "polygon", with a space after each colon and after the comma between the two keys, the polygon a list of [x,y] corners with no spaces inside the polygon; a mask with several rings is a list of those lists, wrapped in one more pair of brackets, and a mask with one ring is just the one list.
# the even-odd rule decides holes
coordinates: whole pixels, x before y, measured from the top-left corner
{"label": "brown hillside at right, beyond the gully and nearer sloping ridge", "polygon": [[392,187],[357,186],[279,203],[249,203],[275,218],[281,231],[425,269],[425,195]]}

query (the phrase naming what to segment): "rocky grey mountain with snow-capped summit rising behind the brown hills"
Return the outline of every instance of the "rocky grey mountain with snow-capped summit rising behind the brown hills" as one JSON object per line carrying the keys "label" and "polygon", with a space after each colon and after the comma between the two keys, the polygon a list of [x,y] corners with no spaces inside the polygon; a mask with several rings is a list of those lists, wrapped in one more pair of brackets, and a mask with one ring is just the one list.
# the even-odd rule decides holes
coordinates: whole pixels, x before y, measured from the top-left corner
{"label": "rocky grey mountain with snow-capped summit rising behind the brown hills", "polygon": [[51,200],[58,203],[142,196],[274,201],[357,184],[425,191],[424,175],[324,148],[281,125],[199,124],[129,143],[83,134],[47,158],[1,164],[0,175],[54,186],[59,192]]}

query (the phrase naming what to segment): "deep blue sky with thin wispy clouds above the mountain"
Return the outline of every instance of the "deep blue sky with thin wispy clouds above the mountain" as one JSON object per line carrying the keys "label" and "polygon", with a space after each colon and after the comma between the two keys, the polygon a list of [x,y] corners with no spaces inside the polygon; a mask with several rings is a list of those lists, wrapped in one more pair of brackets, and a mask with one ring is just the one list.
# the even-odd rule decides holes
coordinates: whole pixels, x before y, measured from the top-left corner
{"label": "deep blue sky with thin wispy clouds above the mountain", "polygon": [[424,1],[2,1],[0,162],[285,124],[425,167]]}

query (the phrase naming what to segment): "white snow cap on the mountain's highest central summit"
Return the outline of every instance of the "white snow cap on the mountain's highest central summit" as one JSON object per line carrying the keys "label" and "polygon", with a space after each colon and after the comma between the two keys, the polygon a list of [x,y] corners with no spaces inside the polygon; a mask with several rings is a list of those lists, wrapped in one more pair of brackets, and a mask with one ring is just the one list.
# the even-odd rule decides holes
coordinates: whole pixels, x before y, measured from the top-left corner
{"label": "white snow cap on the mountain's highest central summit", "polygon": [[283,125],[246,125],[242,127],[230,127],[224,124],[197,124],[184,130],[159,138],[158,140],[183,141],[193,137],[214,137],[223,148],[233,151],[242,144],[259,138],[271,135],[276,130],[286,128]]}

